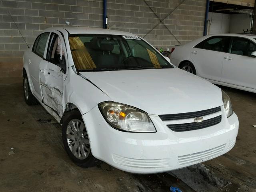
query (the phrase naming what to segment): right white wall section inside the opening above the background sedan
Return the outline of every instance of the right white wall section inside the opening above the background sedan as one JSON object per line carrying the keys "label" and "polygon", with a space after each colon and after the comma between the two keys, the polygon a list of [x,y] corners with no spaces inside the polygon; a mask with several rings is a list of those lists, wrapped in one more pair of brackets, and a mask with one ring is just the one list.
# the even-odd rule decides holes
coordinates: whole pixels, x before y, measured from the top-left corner
{"label": "right white wall section inside the opening above the background sedan", "polygon": [[230,15],[230,33],[242,33],[243,30],[250,30],[251,17],[249,14]]}

